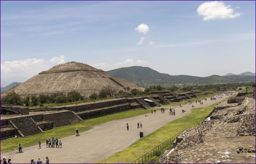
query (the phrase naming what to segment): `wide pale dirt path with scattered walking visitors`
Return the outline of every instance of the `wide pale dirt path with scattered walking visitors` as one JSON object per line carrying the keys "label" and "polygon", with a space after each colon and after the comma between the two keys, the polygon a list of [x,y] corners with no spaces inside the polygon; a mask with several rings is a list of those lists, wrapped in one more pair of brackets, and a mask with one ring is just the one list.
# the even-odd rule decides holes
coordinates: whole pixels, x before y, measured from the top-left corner
{"label": "wide pale dirt path with scattered walking visitors", "polygon": [[[194,103],[194,105],[195,108],[209,106],[227,97],[229,96],[217,98],[216,101],[210,101],[208,98],[208,101],[202,101],[204,105],[199,103]],[[50,163],[96,163],[138,141],[140,131],[143,131],[146,136],[166,123],[187,115],[191,109],[191,105],[188,104],[183,107],[173,107],[176,109],[176,116],[170,116],[168,110],[165,110],[165,113],[156,111],[156,114],[150,113],[148,117],[140,115],[95,126],[87,132],[80,133],[79,137],[75,137],[74,129],[73,136],[62,138],[63,148],[46,148],[43,143],[41,149],[38,149],[36,145],[23,148],[24,153],[13,151],[1,154],[1,156],[12,156],[12,163],[30,163],[31,159],[37,160],[38,157],[45,163],[46,156],[49,157]],[[187,112],[182,113],[181,109]],[[138,121],[142,122],[142,129],[137,129]],[[129,124],[129,131],[126,130],[126,123]],[[48,138],[50,137],[52,136]]]}

